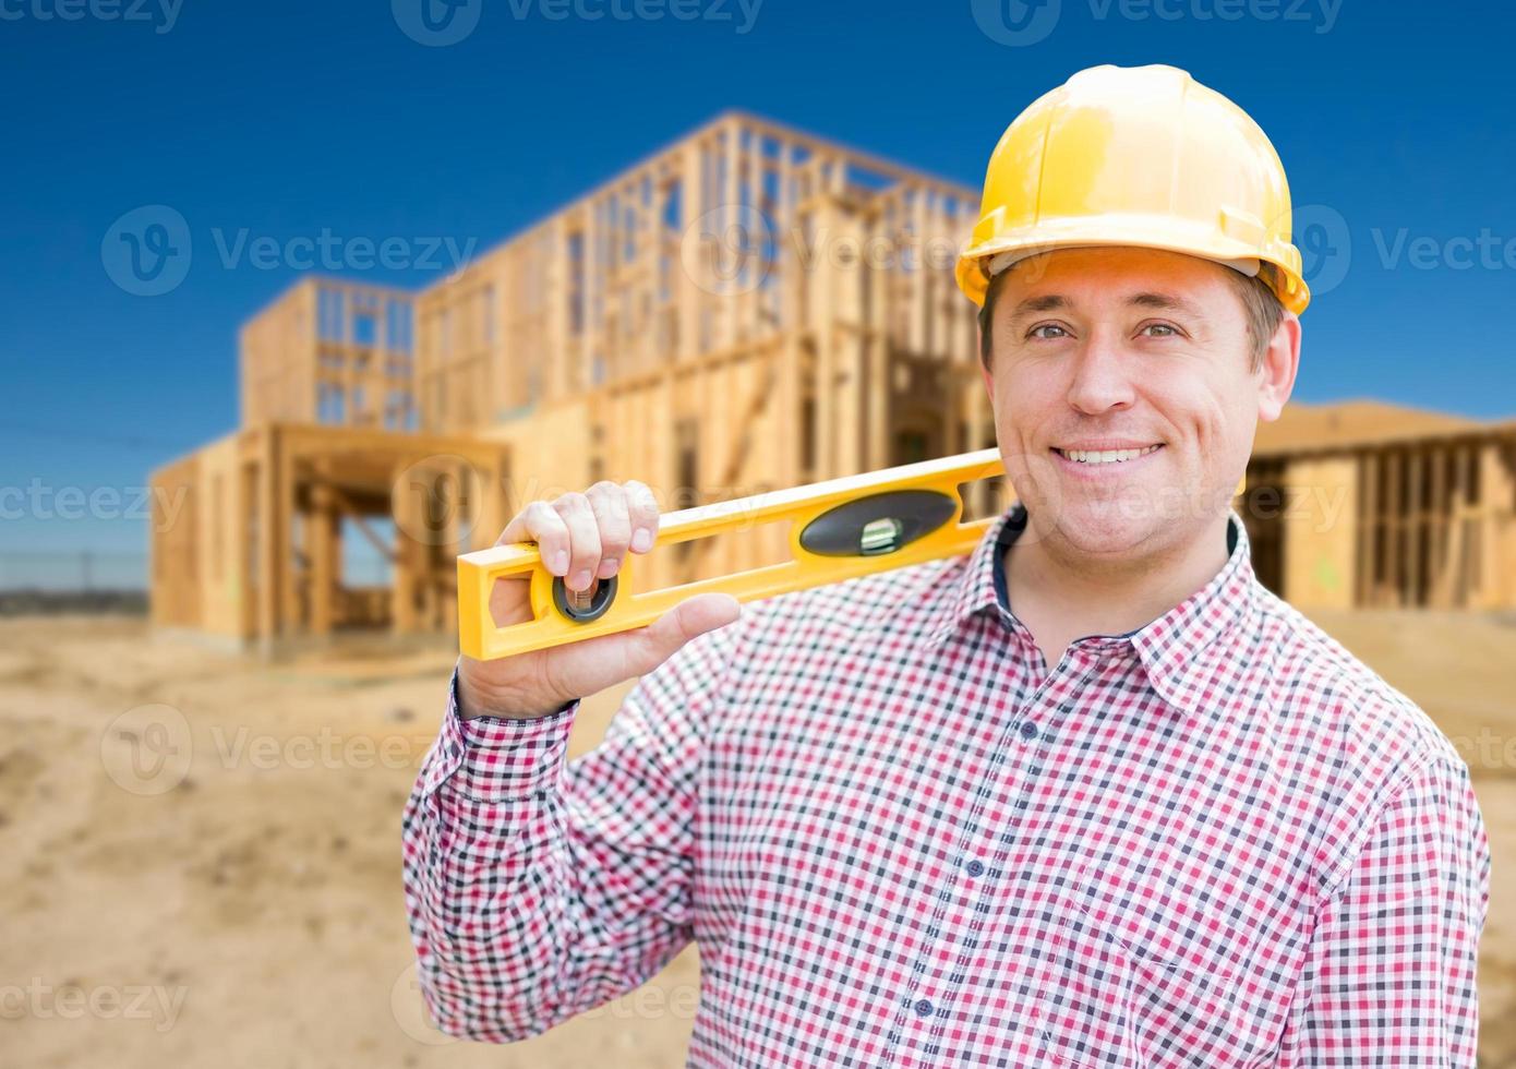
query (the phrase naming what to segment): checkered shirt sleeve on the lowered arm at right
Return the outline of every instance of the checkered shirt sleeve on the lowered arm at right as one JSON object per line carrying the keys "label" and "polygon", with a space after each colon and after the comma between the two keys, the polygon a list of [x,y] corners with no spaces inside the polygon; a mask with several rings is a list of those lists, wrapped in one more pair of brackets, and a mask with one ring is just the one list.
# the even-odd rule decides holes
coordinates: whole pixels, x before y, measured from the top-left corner
{"label": "checkered shirt sleeve on the lowered arm at right", "polygon": [[1434,757],[1320,907],[1280,1066],[1474,1069],[1489,879],[1467,764]]}

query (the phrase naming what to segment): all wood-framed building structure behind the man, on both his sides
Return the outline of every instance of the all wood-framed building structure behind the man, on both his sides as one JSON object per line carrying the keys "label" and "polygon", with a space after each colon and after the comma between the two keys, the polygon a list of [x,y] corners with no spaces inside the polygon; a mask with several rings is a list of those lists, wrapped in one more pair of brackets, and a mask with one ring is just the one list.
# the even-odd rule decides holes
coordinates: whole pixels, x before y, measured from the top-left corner
{"label": "all wood-framed building structure behind the man, on both his sides", "polygon": [[[952,279],[976,212],[726,114],[420,293],[308,277],[241,331],[241,429],[153,476],[186,494],[153,525],[153,620],[265,649],[446,632],[453,556],[532,499],[635,478],[670,511],[993,446]],[[1292,405],[1249,469],[1260,576],[1302,608],[1510,607],[1513,429]],[[785,552],[728,538],[640,575]],[[382,581],[344,573],[349,540]]]}

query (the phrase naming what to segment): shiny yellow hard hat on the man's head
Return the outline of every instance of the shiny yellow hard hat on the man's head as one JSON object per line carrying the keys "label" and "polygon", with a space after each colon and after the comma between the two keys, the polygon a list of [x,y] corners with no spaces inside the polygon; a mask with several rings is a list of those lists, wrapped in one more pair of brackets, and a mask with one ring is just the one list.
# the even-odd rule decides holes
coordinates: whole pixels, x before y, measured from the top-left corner
{"label": "shiny yellow hard hat on the man's head", "polygon": [[987,261],[1140,246],[1231,264],[1301,312],[1290,187],[1248,112],[1176,67],[1092,67],[1016,117],[990,153],[958,288],[984,305]]}

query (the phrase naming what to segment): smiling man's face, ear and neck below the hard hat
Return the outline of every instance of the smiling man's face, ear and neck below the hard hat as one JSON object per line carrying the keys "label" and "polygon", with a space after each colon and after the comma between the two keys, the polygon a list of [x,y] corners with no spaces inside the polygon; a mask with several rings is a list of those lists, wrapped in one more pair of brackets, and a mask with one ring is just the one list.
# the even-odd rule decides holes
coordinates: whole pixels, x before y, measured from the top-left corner
{"label": "smiling man's face, ear and neck below the hard hat", "polygon": [[1007,552],[1016,616],[1057,664],[1220,572],[1258,419],[1278,419],[1301,329],[1261,282],[1182,253],[1043,252],[988,284],[981,353],[1034,537]]}

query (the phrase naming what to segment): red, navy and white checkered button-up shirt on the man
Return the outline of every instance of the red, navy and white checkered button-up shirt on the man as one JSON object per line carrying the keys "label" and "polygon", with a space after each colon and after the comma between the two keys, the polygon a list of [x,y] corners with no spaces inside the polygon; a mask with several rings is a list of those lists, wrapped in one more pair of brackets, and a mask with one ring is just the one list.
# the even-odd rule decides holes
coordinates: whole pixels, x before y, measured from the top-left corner
{"label": "red, navy and white checkered button-up shirt on the man", "polygon": [[[406,804],[423,993],[534,1036],[700,951],[691,1066],[1474,1066],[1489,843],[1410,699],[1229,560],[1049,672],[970,553],[749,602],[565,763]],[[1013,550],[1014,552],[1014,550]],[[456,699],[455,699],[456,701]]]}

